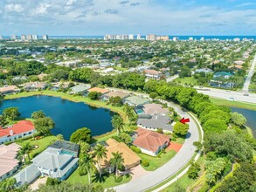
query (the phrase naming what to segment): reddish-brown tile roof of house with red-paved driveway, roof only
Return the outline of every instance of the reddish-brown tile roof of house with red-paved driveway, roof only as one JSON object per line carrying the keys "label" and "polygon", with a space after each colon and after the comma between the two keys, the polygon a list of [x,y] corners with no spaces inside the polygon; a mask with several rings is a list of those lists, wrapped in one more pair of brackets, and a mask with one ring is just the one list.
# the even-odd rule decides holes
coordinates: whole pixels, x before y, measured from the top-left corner
{"label": "reddish-brown tile roof of house with red-paved driveway, roof only", "polygon": [[156,153],[158,147],[163,146],[165,142],[170,141],[169,136],[158,134],[144,128],[138,128],[136,133],[138,134],[138,137],[135,139],[133,144],[137,147],[142,147],[154,153]]}

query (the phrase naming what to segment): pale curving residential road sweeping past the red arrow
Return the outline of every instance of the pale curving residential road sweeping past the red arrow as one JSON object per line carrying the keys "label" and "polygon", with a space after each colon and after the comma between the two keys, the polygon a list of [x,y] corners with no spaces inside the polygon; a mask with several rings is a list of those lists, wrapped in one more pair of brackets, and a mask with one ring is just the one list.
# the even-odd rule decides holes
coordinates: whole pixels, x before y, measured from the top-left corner
{"label": "pale curving residential road sweeping past the red arrow", "polygon": [[[142,93],[136,93],[136,94],[148,96],[148,94],[142,94]],[[190,118],[190,123],[189,123],[190,130],[186,140],[184,141],[183,147],[174,156],[174,158],[172,158],[170,161],[164,164],[161,168],[157,168],[154,172],[151,172],[148,175],[143,175],[140,179],[115,187],[114,189],[116,189],[117,192],[128,192],[128,191],[139,192],[139,191],[145,191],[147,189],[150,189],[156,186],[157,184],[160,184],[170,176],[176,175],[176,173],[181,168],[183,168],[183,166],[188,161],[190,161],[190,159],[194,155],[196,147],[193,146],[193,142],[199,141],[197,123],[190,117],[189,113],[183,112],[179,108],[179,106],[176,106],[175,104],[167,101],[164,101],[164,102],[167,103],[168,106],[175,108],[176,112],[182,117]]]}

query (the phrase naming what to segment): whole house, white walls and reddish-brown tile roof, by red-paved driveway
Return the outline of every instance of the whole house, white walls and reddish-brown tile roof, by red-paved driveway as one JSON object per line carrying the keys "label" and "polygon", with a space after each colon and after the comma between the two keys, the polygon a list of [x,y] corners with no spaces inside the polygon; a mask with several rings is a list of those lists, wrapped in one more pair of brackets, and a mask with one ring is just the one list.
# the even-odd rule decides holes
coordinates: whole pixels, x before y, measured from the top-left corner
{"label": "whole house, white walls and reddish-brown tile roof, by red-paved driveway", "polygon": [[170,144],[170,137],[164,134],[158,134],[144,128],[138,128],[135,131],[135,141],[133,145],[139,147],[142,153],[156,156],[163,148]]}

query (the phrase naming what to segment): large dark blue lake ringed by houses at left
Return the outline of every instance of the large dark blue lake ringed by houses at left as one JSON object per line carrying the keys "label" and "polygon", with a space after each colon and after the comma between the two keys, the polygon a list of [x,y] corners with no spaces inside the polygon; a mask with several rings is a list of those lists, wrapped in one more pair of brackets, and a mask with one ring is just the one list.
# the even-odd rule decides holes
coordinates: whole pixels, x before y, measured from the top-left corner
{"label": "large dark blue lake ringed by houses at left", "polygon": [[16,106],[24,118],[31,118],[31,113],[42,110],[55,122],[52,134],[63,134],[69,141],[70,135],[78,128],[91,129],[92,135],[106,134],[113,130],[111,119],[114,115],[108,109],[76,103],[52,96],[31,96],[19,99],[7,99],[0,103],[0,113],[4,108]]}

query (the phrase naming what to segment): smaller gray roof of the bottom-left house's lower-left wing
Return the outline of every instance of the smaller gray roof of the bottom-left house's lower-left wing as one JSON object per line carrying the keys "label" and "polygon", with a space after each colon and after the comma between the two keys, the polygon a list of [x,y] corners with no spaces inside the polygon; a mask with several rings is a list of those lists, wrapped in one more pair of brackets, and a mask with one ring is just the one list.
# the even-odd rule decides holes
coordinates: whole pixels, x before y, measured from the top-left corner
{"label": "smaller gray roof of the bottom-left house's lower-left wing", "polygon": [[16,179],[18,185],[24,185],[25,183],[34,181],[40,174],[41,173],[38,167],[33,163],[22,169],[17,173],[17,175],[14,175],[13,177]]}

